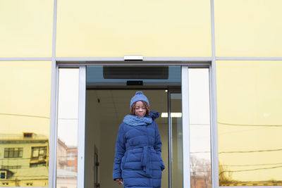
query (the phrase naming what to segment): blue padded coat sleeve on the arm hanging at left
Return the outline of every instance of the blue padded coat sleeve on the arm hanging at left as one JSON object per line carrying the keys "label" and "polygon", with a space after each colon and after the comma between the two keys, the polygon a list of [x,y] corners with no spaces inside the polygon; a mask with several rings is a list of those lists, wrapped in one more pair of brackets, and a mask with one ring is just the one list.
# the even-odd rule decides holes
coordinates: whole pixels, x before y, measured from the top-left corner
{"label": "blue padded coat sleeve on the arm hanging at left", "polygon": [[125,153],[125,132],[123,130],[123,124],[118,129],[118,137],[116,139],[116,154],[114,159],[114,171],[113,179],[121,177],[121,159]]}

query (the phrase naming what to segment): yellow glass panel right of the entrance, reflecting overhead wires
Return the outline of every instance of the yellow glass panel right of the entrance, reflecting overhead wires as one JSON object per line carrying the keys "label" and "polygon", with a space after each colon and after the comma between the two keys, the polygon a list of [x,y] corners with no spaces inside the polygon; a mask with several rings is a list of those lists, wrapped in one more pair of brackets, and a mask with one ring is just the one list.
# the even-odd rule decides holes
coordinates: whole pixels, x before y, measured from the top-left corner
{"label": "yellow glass panel right of the entrance, reflecting overhead wires", "polygon": [[282,61],[216,61],[221,186],[282,185]]}

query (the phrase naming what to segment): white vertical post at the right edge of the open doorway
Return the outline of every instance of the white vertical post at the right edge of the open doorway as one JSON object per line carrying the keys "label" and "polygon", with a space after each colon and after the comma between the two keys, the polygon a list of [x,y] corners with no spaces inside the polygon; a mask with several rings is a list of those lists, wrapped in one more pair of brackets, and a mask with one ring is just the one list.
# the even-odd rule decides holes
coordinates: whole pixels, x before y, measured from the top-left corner
{"label": "white vertical post at the right edge of the open doorway", "polygon": [[190,188],[190,130],[188,66],[181,68],[182,125],[183,125],[183,188]]}

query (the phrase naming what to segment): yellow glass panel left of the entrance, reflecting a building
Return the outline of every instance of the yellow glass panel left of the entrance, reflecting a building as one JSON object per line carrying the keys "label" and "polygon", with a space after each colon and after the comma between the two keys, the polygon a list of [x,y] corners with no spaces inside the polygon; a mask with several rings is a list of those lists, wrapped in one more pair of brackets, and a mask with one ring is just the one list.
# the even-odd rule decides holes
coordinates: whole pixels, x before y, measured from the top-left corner
{"label": "yellow glass panel left of the entrance, reflecting a building", "polygon": [[[19,141],[32,140],[30,138],[24,138],[23,132],[33,132],[39,138],[44,137],[44,140],[47,140],[48,143],[51,61],[0,61],[0,88],[1,155],[4,154],[4,147],[17,147],[11,144],[8,141],[9,139],[18,139]],[[35,135],[34,137],[37,138],[37,136]],[[40,145],[37,144],[36,146]],[[18,147],[23,146],[18,144]],[[23,164],[23,160],[30,161],[30,155],[30,152],[28,150],[26,151],[25,147],[23,157],[5,158],[5,161],[8,161],[6,165],[15,165],[15,161],[16,165],[23,165],[21,168],[27,171],[24,173],[22,169],[19,169],[21,173],[16,173],[15,175],[19,181],[30,175],[31,172],[34,172],[31,171],[32,169],[39,169],[37,174],[42,175],[44,173],[44,180],[40,180],[40,184],[35,181],[33,186],[48,186],[48,184],[45,184],[48,180],[48,176],[46,177],[48,175],[48,167],[42,167],[44,169],[40,171],[42,168],[31,169],[26,163]],[[49,156],[49,149],[47,149],[47,156]],[[9,170],[14,173],[15,169]],[[32,175],[34,174],[32,173]]]}

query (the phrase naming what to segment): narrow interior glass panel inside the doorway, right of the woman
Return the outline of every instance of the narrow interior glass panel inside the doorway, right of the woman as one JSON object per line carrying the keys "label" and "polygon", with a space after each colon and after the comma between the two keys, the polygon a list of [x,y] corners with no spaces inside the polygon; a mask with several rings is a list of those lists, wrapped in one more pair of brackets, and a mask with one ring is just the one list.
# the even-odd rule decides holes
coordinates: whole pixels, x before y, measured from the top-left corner
{"label": "narrow interior glass panel inside the doorway, right of the woman", "polygon": [[172,187],[183,187],[182,100],[180,93],[171,94]]}

